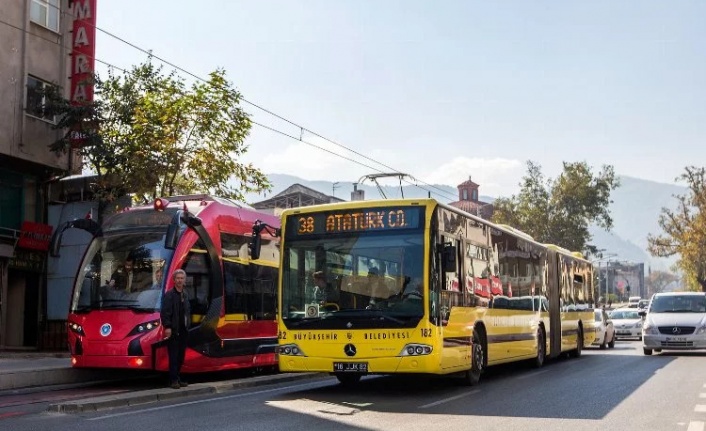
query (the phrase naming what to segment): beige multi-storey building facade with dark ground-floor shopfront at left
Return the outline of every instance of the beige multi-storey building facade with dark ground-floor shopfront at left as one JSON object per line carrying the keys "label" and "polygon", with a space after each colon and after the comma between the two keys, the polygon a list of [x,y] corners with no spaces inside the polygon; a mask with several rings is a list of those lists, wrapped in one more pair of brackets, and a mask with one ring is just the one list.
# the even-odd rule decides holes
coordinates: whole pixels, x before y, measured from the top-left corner
{"label": "beige multi-storey building facade with dark ground-floor shopfront at left", "polygon": [[[87,2],[72,3],[92,13]],[[3,0],[0,8],[0,350],[43,347],[49,188],[81,172],[77,151],[49,150],[64,132],[54,128],[43,93],[56,87],[71,97],[70,54],[83,45],[72,40],[71,6]]]}

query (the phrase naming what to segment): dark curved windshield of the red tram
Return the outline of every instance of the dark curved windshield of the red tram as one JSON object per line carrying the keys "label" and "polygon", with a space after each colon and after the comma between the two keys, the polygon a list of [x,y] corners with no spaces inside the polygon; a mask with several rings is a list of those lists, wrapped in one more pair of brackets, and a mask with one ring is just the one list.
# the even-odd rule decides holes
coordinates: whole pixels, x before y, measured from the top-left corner
{"label": "dark curved windshield of the red tram", "polygon": [[159,310],[173,254],[164,248],[164,236],[163,230],[140,229],[94,238],[76,278],[71,312]]}

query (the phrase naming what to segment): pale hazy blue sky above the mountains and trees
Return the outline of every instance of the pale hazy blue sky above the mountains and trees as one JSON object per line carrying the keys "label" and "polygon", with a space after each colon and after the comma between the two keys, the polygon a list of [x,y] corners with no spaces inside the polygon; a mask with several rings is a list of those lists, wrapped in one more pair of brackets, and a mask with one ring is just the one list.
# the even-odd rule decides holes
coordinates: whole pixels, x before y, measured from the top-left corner
{"label": "pale hazy blue sky above the mountains and trees", "polygon": [[[527,160],[669,183],[706,165],[705,1],[99,0],[97,17],[198,76],[225,68],[248,101],[360,154],[244,104],[345,157],[253,126],[243,161],[266,173],[471,175],[500,196]],[[146,59],[97,37],[101,61]]]}

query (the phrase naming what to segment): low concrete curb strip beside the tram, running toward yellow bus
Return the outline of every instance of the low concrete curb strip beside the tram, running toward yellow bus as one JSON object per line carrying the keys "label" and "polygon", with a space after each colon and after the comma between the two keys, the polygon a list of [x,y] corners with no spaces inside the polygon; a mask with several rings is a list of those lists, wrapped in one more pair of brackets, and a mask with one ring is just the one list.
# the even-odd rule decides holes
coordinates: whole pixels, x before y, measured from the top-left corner
{"label": "low concrete curb strip beside the tram, running toward yellow bus", "polygon": [[118,407],[150,404],[194,395],[218,394],[235,389],[274,385],[277,383],[313,379],[316,377],[322,378],[328,377],[328,375],[321,373],[276,374],[271,376],[250,377],[242,380],[229,380],[225,382],[196,383],[179,390],[174,390],[171,388],[149,389],[146,391],[128,392],[83,400],[60,402],[49,405],[49,407],[47,407],[47,411],[51,413],[67,414],[90,413]]}

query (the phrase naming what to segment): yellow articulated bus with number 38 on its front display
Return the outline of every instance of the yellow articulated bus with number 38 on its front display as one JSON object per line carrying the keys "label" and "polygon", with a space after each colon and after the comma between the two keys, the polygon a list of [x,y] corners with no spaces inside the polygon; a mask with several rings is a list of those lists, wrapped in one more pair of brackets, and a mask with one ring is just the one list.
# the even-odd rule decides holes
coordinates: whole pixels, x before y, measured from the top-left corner
{"label": "yellow articulated bus with number 38 on its front display", "polygon": [[279,233],[280,371],[476,384],[488,366],[542,366],[594,341],[580,253],[433,199],[289,209]]}

